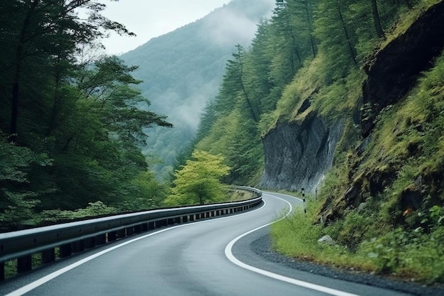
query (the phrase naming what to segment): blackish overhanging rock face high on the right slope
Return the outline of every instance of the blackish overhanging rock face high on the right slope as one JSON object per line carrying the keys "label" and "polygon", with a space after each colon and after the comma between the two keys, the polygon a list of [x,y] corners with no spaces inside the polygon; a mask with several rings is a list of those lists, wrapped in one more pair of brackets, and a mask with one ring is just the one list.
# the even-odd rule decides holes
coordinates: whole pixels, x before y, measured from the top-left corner
{"label": "blackish overhanging rock face high on the right slope", "polygon": [[374,119],[385,106],[395,104],[409,91],[444,47],[444,1],[432,6],[412,26],[365,65],[368,78],[362,87],[362,135],[368,136]]}

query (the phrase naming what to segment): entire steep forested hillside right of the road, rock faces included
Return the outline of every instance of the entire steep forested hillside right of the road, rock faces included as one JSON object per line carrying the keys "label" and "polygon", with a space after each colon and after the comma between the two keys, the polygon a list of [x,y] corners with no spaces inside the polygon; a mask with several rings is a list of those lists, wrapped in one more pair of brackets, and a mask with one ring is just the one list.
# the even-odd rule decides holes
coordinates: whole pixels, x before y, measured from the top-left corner
{"label": "entire steep forested hillside right of the road, rock faces included", "polygon": [[[308,186],[311,214],[274,227],[278,251],[444,281],[443,11],[438,0],[277,1],[250,48],[235,48],[194,149],[223,155],[227,183]],[[301,168],[316,182],[289,177]]]}

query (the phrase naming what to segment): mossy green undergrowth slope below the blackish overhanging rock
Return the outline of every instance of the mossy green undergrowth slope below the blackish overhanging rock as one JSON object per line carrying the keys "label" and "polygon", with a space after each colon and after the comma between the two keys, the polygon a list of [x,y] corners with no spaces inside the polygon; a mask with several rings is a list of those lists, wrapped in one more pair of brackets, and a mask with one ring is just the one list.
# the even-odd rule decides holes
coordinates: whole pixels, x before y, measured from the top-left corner
{"label": "mossy green undergrowth slope below the blackish overhanging rock", "polygon": [[[443,82],[441,55],[417,87],[379,114],[363,150],[336,153],[308,213],[296,212],[272,226],[277,251],[404,280],[444,283]],[[350,189],[356,193],[347,195]],[[318,243],[326,235],[333,244]]]}

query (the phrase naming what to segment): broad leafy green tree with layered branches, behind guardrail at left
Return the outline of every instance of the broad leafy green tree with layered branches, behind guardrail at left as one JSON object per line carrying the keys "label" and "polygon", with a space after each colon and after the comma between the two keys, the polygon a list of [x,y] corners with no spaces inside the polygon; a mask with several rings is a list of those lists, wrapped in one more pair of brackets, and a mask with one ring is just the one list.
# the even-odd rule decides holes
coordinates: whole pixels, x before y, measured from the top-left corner
{"label": "broad leafy green tree with layered branches, behind guardrail at left", "polygon": [[42,209],[78,209],[98,198],[118,209],[134,209],[140,199],[135,192],[146,192],[143,182],[135,182],[148,170],[140,151],[145,128],[172,125],[148,111],[148,99],[133,89],[140,82],[131,75],[136,68],[104,57],[62,83],[64,99],[45,134],[52,141],[42,143],[52,151],[54,167],[47,174],[59,190],[42,200]]}

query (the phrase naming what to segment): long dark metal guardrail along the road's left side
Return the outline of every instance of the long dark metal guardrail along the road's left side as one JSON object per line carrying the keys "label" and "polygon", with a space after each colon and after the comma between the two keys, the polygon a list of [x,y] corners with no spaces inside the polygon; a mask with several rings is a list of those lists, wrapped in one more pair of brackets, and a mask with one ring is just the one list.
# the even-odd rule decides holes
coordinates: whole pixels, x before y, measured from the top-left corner
{"label": "long dark metal guardrail along the road's left side", "polygon": [[0,234],[0,280],[5,279],[6,261],[17,259],[17,273],[24,273],[32,269],[35,253],[41,253],[41,263],[51,263],[55,261],[56,248],[59,257],[65,258],[150,229],[234,214],[262,202],[260,190],[251,187],[235,189],[250,191],[253,198],[242,202],[155,209]]}

